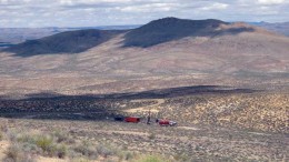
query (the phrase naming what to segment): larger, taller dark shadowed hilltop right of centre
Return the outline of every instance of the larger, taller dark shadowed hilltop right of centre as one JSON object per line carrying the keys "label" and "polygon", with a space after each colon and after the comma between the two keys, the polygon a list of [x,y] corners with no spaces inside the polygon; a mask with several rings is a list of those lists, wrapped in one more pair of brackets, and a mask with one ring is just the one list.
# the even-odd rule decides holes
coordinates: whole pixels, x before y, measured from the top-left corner
{"label": "larger, taller dark shadowed hilltop right of centre", "polygon": [[220,20],[181,20],[165,18],[151,21],[126,34],[124,47],[152,47],[186,37],[213,37],[216,29],[228,24]]}

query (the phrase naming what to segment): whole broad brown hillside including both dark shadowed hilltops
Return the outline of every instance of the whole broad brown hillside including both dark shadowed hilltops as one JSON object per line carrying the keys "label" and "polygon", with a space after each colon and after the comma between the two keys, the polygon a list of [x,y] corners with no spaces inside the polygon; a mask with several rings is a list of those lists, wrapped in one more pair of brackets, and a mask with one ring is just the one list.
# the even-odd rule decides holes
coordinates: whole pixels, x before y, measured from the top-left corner
{"label": "whole broad brown hillside including both dark shadowed hilltops", "polygon": [[[128,47],[131,34],[137,43]],[[0,53],[2,94],[203,84],[271,89],[289,82],[289,38],[246,23],[167,18],[130,31],[64,32],[40,42]]]}

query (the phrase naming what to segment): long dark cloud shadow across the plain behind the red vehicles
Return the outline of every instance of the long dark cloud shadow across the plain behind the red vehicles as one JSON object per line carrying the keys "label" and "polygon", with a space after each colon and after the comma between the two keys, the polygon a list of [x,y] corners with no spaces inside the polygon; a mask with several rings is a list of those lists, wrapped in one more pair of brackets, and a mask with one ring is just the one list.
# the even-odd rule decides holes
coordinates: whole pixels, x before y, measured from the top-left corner
{"label": "long dark cloud shadow across the plain behind the red vehicles", "polygon": [[[229,87],[200,85],[149,90],[143,92],[59,95],[38,93],[27,99],[0,98],[0,117],[53,120],[106,120],[113,118],[122,109],[133,109],[151,104],[144,99],[166,99],[193,94],[253,93],[256,90]],[[130,102],[131,100],[142,100]],[[124,108],[122,105],[126,105]]]}

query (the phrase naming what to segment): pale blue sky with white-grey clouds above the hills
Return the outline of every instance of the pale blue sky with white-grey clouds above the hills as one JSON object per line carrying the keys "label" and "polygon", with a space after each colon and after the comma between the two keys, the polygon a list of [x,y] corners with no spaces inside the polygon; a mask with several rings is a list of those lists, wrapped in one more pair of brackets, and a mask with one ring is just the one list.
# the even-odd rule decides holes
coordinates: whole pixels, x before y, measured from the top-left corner
{"label": "pale blue sky with white-grey clouds above the hills", "polygon": [[151,20],[289,21],[289,0],[0,0],[0,28],[144,24]]}

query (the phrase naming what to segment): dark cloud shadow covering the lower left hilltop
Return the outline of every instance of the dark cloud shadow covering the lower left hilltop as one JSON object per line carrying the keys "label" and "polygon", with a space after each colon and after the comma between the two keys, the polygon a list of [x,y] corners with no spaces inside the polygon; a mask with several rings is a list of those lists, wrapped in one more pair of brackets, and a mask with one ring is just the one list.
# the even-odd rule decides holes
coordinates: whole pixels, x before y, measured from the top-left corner
{"label": "dark cloud shadow covering the lower left hilltop", "polygon": [[28,40],[23,43],[3,49],[4,52],[14,53],[16,57],[33,57],[39,54],[73,54],[97,47],[114,36],[122,33],[120,30],[79,30],[66,31],[38,40]]}

